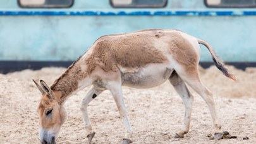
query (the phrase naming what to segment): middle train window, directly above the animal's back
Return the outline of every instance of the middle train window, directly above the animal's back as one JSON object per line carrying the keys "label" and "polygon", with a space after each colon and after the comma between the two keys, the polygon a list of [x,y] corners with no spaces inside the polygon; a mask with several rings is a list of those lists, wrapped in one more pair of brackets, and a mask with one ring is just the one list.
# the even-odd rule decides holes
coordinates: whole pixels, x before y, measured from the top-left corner
{"label": "middle train window, directly above the animal's back", "polygon": [[164,8],[167,0],[109,0],[113,8]]}

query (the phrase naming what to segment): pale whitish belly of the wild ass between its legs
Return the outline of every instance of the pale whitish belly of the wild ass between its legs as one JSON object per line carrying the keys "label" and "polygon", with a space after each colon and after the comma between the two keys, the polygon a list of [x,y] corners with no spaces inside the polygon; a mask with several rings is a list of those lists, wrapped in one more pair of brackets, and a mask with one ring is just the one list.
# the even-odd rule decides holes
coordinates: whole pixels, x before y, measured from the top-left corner
{"label": "pale whitish belly of the wild ass between its legs", "polygon": [[169,79],[173,69],[166,64],[150,64],[139,69],[120,69],[123,86],[151,88],[159,86]]}

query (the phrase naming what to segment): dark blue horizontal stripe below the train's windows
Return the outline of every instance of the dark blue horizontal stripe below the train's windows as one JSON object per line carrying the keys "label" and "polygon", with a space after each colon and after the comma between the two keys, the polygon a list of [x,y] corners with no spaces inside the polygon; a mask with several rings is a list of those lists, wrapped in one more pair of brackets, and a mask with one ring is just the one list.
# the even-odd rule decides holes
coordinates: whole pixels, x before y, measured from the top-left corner
{"label": "dark blue horizontal stripe below the train's windows", "polygon": [[256,16],[256,11],[0,11],[0,16]]}

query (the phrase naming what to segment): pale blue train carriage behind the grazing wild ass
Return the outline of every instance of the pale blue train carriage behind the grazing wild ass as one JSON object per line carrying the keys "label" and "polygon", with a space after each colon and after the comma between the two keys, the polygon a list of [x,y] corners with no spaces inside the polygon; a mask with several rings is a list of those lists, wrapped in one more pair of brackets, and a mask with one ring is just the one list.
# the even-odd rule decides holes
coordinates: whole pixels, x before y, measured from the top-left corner
{"label": "pale blue train carriage behind the grazing wild ass", "polygon": [[[1,0],[0,72],[67,67],[99,36],[147,28],[185,31],[226,63],[255,66],[255,8],[255,0]],[[201,64],[211,62],[202,48]]]}

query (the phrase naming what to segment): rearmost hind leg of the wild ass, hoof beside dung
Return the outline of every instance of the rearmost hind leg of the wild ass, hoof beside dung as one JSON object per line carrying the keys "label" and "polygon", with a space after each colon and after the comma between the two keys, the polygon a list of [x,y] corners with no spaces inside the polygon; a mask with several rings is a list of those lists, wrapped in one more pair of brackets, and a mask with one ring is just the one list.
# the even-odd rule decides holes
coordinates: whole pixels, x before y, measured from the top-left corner
{"label": "rearmost hind leg of the wild ass, hoof beside dung", "polygon": [[188,84],[200,96],[202,96],[204,101],[207,103],[209,110],[210,110],[210,115],[212,117],[214,132],[216,134],[215,138],[221,139],[221,136],[222,136],[222,135],[220,135],[221,125],[219,124],[219,121],[217,118],[213,95],[212,95],[212,92],[210,92],[209,89],[207,89],[207,87],[205,87],[204,84],[202,84],[202,82],[199,78],[197,66],[194,67],[194,69],[190,69],[190,71],[180,70],[177,73],[178,73],[178,75],[180,75],[181,79],[185,80],[186,84]]}

